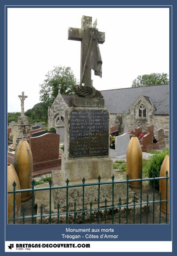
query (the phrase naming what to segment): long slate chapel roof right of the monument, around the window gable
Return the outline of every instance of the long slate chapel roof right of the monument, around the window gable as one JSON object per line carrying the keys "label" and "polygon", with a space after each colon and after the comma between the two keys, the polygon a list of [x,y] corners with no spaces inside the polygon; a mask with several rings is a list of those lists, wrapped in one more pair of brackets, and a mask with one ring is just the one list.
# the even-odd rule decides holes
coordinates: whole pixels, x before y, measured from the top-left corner
{"label": "long slate chapel roof right of the monument, around the window gable", "polygon": [[128,113],[130,106],[142,94],[150,98],[156,109],[153,114],[169,115],[169,84],[105,90],[101,93],[111,114],[121,114],[124,109]]}

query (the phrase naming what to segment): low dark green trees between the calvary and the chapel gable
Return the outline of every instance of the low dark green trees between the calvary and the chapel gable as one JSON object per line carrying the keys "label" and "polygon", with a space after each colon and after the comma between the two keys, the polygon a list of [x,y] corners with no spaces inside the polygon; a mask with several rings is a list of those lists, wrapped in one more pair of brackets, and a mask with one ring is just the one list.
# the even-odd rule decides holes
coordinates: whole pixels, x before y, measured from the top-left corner
{"label": "low dark green trees between the calvary and the chapel gable", "polygon": [[48,122],[48,105],[44,102],[39,102],[34,105],[33,108],[28,109],[25,112],[29,124],[37,123],[47,123]]}

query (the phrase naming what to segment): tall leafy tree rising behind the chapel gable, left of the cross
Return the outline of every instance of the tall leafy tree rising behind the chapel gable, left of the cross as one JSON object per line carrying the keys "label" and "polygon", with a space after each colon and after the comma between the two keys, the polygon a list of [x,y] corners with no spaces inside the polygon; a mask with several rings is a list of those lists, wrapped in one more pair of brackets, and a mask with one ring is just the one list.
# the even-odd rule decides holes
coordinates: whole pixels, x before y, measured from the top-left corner
{"label": "tall leafy tree rising behind the chapel gable, left of the cross", "polygon": [[74,95],[73,86],[77,84],[73,71],[70,67],[54,67],[46,75],[46,79],[40,84],[41,90],[40,100],[51,106],[58,95],[61,94]]}

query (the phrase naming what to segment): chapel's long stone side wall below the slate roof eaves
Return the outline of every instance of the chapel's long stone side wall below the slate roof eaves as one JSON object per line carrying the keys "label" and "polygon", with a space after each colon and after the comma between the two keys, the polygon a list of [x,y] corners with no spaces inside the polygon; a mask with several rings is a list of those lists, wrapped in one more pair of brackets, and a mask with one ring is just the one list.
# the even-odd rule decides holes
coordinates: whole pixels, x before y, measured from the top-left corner
{"label": "chapel's long stone side wall below the slate roof eaves", "polygon": [[[118,114],[120,115],[120,114]],[[110,114],[110,126],[116,123],[117,114]],[[142,132],[147,132],[147,126],[154,125],[154,134],[159,128],[164,129],[164,135],[169,133],[169,116],[168,115],[154,115],[150,114],[148,119],[135,119],[132,117],[131,113],[126,116],[127,124],[129,129],[134,129],[141,126]]]}

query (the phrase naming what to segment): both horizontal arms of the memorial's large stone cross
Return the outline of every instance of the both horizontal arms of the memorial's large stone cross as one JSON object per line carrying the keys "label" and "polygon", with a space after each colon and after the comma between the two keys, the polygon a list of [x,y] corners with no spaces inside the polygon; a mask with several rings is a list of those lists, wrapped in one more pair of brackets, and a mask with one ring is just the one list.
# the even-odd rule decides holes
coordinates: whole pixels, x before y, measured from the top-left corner
{"label": "both horizontal arms of the memorial's large stone cross", "polygon": [[[68,40],[82,41],[83,28],[68,28]],[[98,43],[105,42],[105,32],[98,31]]]}

